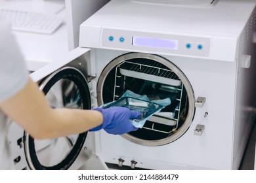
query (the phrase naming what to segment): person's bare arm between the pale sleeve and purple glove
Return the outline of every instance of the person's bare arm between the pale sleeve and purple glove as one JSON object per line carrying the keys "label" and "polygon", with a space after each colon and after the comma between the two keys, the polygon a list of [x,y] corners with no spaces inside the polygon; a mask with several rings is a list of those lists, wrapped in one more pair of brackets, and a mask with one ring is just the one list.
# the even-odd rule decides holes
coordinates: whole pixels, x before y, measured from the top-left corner
{"label": "person's bare arm between the pale sleeve and purple glove", "polygon": [[0,103],[0,108],[36,139],[81,133],[103,121],[102,114],[95,110],[51,108],[32,80],[11,99]]}

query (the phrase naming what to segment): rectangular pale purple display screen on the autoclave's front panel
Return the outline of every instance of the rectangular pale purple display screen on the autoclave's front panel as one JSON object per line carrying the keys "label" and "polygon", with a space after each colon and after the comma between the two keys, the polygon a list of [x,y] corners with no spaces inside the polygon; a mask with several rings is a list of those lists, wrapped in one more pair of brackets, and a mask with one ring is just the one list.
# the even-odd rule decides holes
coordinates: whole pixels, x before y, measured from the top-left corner
{"label": "rectangular pale purple display screen on the autoclave's front panel", "polygon": [[145,46],[152,48],[165,48],[165,49],[178,49],[178,41],[172,39],[158,39],[152,37],[133,37],[133,45],[135,46]]}

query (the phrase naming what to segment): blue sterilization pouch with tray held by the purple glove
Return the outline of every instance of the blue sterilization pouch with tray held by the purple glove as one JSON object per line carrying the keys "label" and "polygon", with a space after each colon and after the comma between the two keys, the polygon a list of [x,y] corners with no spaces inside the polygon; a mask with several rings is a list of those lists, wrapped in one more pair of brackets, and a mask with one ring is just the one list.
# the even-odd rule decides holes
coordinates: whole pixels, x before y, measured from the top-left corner
{"label": "blue sterilization pouch with tray held by the purple glove", "polygon": [[171,99],[169,98],[150,101],[146,95],[139,95],[127,90],[117,101],[106,103],[100,107],[109,108],[119,106],[127,107],[131,110],[138,110],[142,115],[137,119],[131,120],[131,123],[135,127],[142,128],[148,118],[160,112],[161,109],[170,104]]}

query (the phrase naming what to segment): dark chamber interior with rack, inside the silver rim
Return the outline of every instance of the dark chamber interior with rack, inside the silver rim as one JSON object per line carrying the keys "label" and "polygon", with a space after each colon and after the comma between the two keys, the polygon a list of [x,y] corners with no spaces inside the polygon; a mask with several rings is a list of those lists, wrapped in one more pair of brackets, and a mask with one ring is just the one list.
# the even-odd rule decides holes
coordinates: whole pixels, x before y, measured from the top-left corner
{"label": "dark chamber interior with rack, inside the silver rim", "polygon": [[187,91],[169,67],[148,58],[131,58],[103,73],[108,73],[102,83],[103,103],[119,99],[127,90],[147,95],[150,100],[171,99],[171,105],[152,116],[141,129],[130,132],[131,137],[158,141],[171,137],[184,124],[189,105]]}

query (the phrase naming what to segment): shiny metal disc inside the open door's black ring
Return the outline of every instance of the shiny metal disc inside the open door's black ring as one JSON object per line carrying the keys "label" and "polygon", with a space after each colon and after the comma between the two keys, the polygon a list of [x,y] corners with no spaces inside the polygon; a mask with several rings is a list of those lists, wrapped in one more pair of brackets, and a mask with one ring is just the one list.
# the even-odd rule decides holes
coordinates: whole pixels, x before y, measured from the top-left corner
{"label": "shiny metal disc inside the open door's black ring", "polygon": [[[83,108],[80,92],[72,80],[58,80],[45,97],[54,108]],[[41,165],[50,167],[60,163],[72,150],[77,137],[78,135],[72,135],[51,140],[35,140],[35,151]]]}

